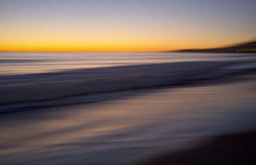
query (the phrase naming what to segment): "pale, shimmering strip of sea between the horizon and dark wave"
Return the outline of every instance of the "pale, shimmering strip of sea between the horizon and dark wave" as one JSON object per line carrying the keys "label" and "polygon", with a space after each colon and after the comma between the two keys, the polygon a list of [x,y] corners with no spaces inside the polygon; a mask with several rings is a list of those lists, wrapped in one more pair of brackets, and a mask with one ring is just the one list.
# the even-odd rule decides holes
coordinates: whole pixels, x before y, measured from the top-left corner
{"label": "pale, shimmering strip of sea between the horizon and dark wave", "polygon": [[54,72],[71,68],[97,68],[143,63],[242,60],[244,53],[184,52],[0,52],[0,75]]}

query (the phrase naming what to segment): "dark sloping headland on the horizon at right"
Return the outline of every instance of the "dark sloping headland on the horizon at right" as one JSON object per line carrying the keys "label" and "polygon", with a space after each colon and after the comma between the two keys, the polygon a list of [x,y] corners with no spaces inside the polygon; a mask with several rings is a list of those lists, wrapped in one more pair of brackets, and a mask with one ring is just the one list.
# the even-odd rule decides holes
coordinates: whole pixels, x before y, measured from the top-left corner
{"label": "dark sloping headland on the horizon at right", "polygon": [[[166,51],[173,52],[173,51]],[[174,52],[256,52],[256,41],[213,49],[182,49]]]}

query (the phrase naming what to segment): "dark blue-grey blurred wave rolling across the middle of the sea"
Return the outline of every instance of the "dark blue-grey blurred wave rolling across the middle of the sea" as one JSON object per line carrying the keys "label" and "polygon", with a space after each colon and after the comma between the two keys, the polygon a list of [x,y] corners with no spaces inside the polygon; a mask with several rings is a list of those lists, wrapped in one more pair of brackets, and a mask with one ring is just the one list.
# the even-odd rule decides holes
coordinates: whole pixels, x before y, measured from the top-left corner
{"label": "dark blue-grey blurred wave rolling across the middle of the sea", "polygon": [[[0,77],[0,113],[93,102],[115,97],[115,91],[219,79],[248,72],[241,67],[230,68],[246,63],[248,61],[193,61],[4,75]],[[256,72],[255,68],[250,71]]]}

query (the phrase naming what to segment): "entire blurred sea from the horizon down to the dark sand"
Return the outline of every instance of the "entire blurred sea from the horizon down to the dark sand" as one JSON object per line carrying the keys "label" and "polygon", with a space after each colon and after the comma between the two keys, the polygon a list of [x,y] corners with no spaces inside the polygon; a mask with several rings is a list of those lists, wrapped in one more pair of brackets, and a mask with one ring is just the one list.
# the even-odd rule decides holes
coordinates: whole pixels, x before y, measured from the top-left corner
{"label": "entire blurred sea from the horizon down to the dark sand", "polygon": [[255,129],[256,54],[1,52],[1,164],[133,164]]}

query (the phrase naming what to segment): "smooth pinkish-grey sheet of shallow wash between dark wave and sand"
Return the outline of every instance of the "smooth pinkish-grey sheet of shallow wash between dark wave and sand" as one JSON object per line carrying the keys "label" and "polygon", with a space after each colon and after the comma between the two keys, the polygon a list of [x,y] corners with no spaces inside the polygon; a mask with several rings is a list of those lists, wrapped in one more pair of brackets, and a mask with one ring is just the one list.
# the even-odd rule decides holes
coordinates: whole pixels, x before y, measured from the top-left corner
{"label": "smooth pinkish-grey sheet of shallow wash between dark wave and sand", "polygon": [[[2,114],[4,164],[118,164],[254,125],[255,82],[152,90],[79,106]],[[38,163],[39,162],[39,163]]]}

